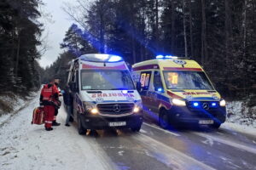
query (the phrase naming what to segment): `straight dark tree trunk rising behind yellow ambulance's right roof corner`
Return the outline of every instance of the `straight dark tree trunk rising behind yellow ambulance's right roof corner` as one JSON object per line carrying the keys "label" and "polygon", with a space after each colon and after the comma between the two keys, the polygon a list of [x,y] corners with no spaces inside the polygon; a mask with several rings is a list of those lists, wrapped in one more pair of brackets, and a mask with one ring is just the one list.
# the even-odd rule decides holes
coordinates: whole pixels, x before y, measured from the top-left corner
{"label": "straight dark tree trunk rising behind yellow ambulance's right roof corner", "polygon": [[206,3],[201,0],[201,64],[204,64],[208,59],[207,53],[207,19],[206,19]]}

